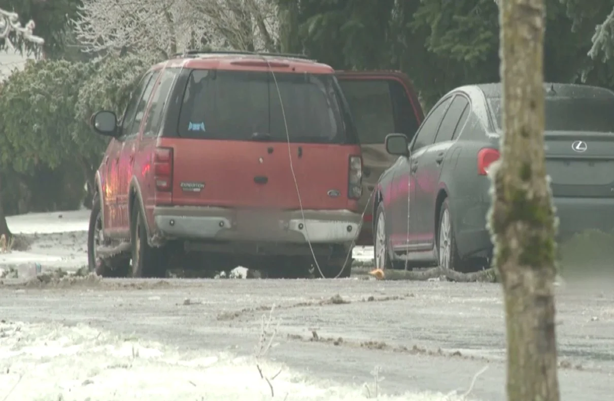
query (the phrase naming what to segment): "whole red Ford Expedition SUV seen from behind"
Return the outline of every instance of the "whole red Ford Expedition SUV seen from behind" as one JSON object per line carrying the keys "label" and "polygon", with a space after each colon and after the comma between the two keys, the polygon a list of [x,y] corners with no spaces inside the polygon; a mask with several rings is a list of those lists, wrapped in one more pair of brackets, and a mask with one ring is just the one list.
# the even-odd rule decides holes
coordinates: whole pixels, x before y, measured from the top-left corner
{"label": "whole red Ford Expedition SUV seen from behind", "polygon": [[240,264],[298,277],[315,256],[323,276],[349,276],[362,158],[330,66],[188,53],[141,78],[120,122],[101,111],[91,123],[112,141],[96,173],[90,270]]}

